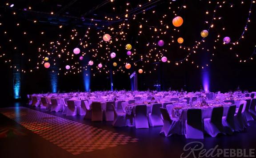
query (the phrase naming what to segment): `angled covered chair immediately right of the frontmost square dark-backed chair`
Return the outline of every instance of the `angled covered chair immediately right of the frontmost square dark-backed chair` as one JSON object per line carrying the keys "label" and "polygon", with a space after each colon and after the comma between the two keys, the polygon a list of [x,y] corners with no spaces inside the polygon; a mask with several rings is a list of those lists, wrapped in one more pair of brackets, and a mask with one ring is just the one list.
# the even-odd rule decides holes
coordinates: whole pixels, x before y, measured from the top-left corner
{"label": "angled covered chair immediately right of the frontmost square dark-backed chair", "polygon": [[214,107],[211,118],[204,119],[204,130],[212,137],[216,137],[219,133],[225,134],[222,125],[223,110],[223,107]]}

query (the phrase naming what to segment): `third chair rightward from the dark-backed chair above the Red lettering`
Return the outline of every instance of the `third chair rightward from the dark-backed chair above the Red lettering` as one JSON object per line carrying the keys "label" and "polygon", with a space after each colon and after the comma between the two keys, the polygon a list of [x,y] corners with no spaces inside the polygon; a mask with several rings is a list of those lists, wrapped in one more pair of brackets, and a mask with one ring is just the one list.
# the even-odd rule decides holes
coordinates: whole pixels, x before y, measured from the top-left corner
{"label": "third chair rightward from the dark-backed chair above the Red lettering", "polygon": [[240,132],[247,128],[247,122],[245,121],[242,111],[245,104],[241,103],[238,107],[237,113],[234,115],[234,122],[235,122],[235,131]]}

